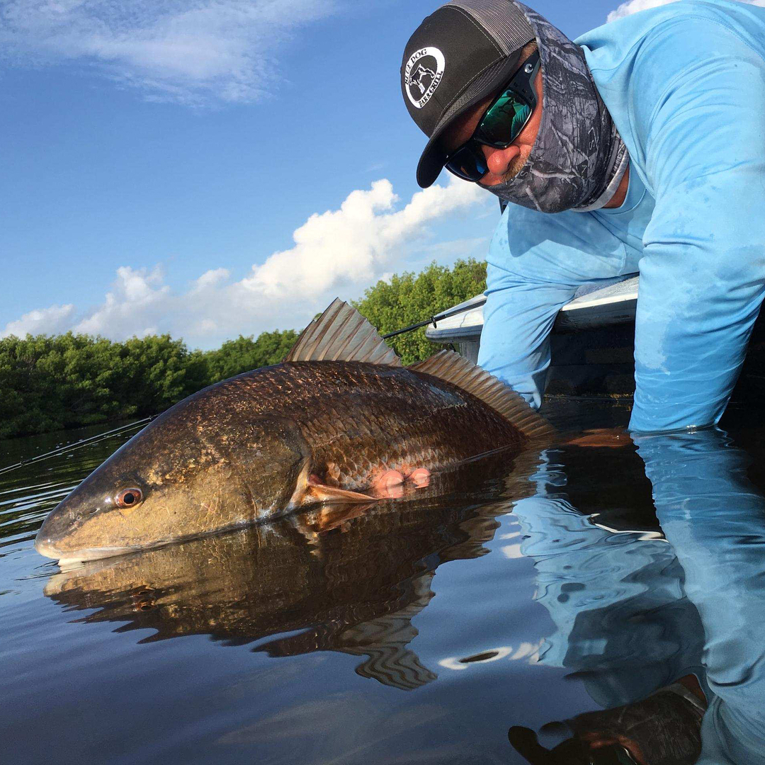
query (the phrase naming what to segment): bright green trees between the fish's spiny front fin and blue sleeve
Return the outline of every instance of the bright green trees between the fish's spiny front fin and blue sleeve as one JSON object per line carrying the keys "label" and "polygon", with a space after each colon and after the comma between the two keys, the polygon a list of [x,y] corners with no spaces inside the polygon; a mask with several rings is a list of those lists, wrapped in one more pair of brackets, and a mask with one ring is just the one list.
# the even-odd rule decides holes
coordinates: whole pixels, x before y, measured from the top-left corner
{"label": "bright green trees between the fish's spiny front fin and blue sleeve", "polygon": [[[454,268],[431,263],[415,275],[405,272],[390,282],[377,282],[353,305],[369,319],[380,334],[388,334],[425,321],[441,311],[480,295],[486,289],[486,263],[458,260]],[[389,340],[405,364],[422,361],[442,346],[425,337],[425,328]]]}

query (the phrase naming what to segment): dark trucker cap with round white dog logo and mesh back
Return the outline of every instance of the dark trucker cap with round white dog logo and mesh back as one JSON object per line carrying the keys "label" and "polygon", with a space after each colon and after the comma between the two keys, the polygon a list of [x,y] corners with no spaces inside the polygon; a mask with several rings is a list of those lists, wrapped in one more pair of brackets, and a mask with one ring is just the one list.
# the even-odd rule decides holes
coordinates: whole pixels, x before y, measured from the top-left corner
{"label": "dark trucker cap with round white dog logo and mesh back", "polygon": [[513,0],[452,0],[425,18],[409,38],[401,90],[409,115],[430,138],[417,182],[431,186],[447,160],[439,138],[458,116],[498,89],[535,39]]}

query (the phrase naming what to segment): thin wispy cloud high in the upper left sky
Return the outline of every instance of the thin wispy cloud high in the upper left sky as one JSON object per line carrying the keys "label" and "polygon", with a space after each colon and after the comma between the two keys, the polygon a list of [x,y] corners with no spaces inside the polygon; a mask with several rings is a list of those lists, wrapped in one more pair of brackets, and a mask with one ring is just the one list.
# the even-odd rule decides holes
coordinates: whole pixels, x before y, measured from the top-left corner
{"label": "thin wispy cloud high in the upper left sky", "polygon": [[74,62],[199,106],[249,102],[278,80],[275,49],[344,0],[4,0],[0,51]]}

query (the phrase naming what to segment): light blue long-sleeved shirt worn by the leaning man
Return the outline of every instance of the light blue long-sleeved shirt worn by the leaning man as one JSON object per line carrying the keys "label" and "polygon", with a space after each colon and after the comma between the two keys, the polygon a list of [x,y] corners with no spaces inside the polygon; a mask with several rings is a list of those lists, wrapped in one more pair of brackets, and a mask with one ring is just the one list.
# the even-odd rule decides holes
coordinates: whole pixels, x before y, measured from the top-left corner
{"label": "light blue long-sleeved shirt worn by the leaning man", "polygon": [[765,8],[682,0],[577,42],[630,152],[627,199],[507,207],[479,363],[539,406],[560,308],[581,285],[640,272],[630,428],[715,424],[765,289]]}

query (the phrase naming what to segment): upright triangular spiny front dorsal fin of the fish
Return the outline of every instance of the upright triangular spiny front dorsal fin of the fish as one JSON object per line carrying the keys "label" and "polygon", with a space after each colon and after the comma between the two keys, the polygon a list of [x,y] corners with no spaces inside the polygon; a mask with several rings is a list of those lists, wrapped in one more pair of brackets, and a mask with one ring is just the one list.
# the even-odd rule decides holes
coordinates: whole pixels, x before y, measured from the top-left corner
{"label": "upright triangular spiny front dorsal fin of the fish", "polygon": [[285,361],[366,361],[402,366],[399,356],[372,324],[340,298],[305,327]]}

